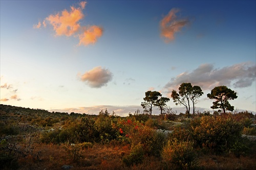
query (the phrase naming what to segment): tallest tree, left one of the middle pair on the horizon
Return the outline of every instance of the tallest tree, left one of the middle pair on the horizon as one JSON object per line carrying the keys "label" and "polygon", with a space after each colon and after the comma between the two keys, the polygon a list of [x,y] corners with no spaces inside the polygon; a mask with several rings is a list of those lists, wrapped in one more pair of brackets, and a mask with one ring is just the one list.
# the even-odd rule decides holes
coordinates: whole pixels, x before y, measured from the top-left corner
{"label": "tallest tree, left one of the middle pair on the horizon", "polygon": [[179,93],[177,93],[176,90],[173,90],[171,95],[174,102],[176,102],[176,105],[180,104],[186,107],[186,113],[188,114],[188,118],[190,111],[189,96],[192,90],[193,86],[191,85],[191,83],[182,83],[179,87]]}

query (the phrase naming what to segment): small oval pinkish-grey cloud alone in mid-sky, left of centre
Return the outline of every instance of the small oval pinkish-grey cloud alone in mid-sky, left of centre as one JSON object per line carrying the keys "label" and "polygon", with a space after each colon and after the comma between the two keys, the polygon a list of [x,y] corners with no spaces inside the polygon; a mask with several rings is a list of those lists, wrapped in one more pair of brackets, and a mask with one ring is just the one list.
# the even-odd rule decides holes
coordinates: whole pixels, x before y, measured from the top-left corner
{"label": "small oval pinkish-grey cloud alone in mid-sky, left of centre", "polygon": [[106,84],[112,80],[113,74],[109,69],[98,66],[85,72],[81,76],[78,74],[78,76],[81,81],[87,82],[90,87],[100,88],[106,86]]}

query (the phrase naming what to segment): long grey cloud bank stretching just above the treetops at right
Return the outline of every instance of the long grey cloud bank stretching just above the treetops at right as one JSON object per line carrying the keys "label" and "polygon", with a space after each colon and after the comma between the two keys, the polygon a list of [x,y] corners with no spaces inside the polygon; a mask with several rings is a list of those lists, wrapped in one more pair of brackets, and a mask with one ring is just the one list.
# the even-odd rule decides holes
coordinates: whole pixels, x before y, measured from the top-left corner
{"label": "long grey cloud bank stretching just above the treetops at right", "polygon": [[165,88],[171,92],[173,89],[178,89],[184,82],[190,82],[208,90],[221,85],[233,85],[236,88],[249,87],[255,81],[255,72],[255,63],[239,63],[219,69],[206,63],[191,72],[183,72],[176,78],[172,78]]}

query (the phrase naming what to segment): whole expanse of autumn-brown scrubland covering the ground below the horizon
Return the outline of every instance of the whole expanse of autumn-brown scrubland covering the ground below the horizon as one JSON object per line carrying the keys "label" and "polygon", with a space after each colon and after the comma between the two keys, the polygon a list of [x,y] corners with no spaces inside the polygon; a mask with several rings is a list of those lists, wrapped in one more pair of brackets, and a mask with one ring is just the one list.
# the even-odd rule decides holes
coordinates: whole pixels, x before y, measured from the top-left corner
{"label": "whole expanse of autumn-brown scrubland covering the ground below the horizon", "polygon": [[0,169],[256,168],[246,111],[120,117],[0,105],[0,118]]}

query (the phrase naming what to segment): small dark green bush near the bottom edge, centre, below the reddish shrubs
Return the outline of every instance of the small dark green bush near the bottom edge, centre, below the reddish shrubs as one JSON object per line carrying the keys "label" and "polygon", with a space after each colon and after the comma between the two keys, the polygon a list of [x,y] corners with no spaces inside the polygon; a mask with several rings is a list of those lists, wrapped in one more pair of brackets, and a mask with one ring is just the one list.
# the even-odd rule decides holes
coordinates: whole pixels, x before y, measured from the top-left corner
{"label": "small dark green bush near the bottom edge, centre, below the reddish shrubs", "polygon": [[131,153],[123,157],[123,163],[126,166],[142,163],[144,159],[143,144],[137,143],[132,144]]}

